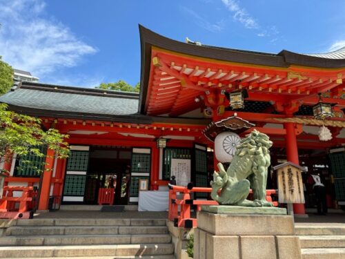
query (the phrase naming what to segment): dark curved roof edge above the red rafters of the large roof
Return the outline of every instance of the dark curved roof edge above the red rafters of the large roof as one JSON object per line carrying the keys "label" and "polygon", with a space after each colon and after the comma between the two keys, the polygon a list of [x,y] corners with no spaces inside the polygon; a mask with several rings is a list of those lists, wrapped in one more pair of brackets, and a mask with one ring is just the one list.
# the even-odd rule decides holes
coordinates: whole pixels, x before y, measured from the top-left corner
{"label": "dark curved roof edge above the red rafters of the large roof", "polygon": [[315,68],[345,67],[344,48],[326,54],[306,55],[288,50],[282,50],[275,54],[250,50],[237,50],[233,48],[221,48],[204,44],[201,46],[188,44],[161,36],[141,25],[139,25],[139,31],[141,39],[141,68],[143,68],[143,63],[146,61],[145,58],[150,56],[150,47],[152,46],[195,57],[233,61],[242,64],[257,64],[276,67],[288,67],[291,64],[298,66],[311,66]]}

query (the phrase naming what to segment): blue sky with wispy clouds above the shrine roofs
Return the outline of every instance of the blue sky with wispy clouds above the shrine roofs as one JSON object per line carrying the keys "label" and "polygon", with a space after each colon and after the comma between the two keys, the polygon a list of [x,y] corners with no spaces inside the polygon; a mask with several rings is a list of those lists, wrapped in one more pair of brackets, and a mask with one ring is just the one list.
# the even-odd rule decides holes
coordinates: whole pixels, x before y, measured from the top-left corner
{"label": "blue sky with wispy clouds above the shrine roofs", "polygon": [[311,53],[345,46],[344,13],[344,0],[0,0],[0,55],[45,83],[134,85],[138,23],[179,41]]}

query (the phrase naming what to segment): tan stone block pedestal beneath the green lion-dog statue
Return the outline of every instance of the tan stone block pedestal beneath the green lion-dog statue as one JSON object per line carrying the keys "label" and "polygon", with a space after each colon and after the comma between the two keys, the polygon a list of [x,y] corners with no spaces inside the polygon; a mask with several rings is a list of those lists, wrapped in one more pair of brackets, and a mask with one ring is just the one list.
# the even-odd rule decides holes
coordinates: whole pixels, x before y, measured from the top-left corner
{"label": "tan stone block pedestal beneath the green lion-dog statue", "polygon": [[285,209],[203,207],[197,225],[194,259],[302,258],[293,218]]}

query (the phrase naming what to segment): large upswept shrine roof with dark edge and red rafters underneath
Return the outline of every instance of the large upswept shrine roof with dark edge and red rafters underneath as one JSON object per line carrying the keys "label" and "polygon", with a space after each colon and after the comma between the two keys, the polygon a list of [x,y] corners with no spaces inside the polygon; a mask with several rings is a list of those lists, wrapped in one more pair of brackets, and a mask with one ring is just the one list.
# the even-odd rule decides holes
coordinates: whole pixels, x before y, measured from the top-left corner
{"label": "large upswept shrine roof with dark edge and red rafters underneath", "polygon": [[342,49],[324,55],[274,54],[199,46],[143,26],[139,30],[141,114],[179,117],[204,106],[216,109],[228,106],[225,93],[239,90],[248,91],[248,101],[274,102],[279,96],[285,102],[344,87]]}

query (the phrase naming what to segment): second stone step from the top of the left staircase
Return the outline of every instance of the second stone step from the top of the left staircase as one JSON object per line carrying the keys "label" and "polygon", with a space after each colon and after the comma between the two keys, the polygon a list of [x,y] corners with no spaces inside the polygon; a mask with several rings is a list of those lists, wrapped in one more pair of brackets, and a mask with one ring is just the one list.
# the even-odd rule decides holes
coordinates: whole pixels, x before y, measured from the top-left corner
{"label": "second stone step from the top of the left staircase", "polygon": [[119,226],[119,227],[10,227],[6,229],[6,236],[45,236],[45,235],[135,235],[135,234],[165,234],[166,226]]}

